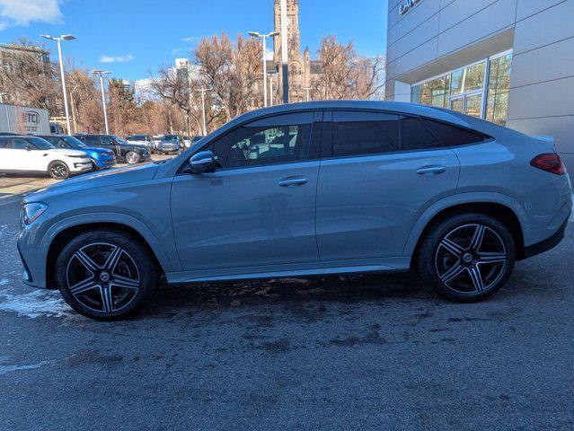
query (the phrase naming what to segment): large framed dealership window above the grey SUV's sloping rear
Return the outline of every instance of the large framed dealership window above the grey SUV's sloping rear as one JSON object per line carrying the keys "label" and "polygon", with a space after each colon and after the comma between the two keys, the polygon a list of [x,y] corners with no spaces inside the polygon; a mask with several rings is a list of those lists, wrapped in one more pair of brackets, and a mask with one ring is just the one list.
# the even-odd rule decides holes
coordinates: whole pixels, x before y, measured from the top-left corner
{"label": "large framed dealership window above the grey SUV's sloping rear", "polygon": [[504,125],[512,53],[505,52],[411,87],[411,101]]}

